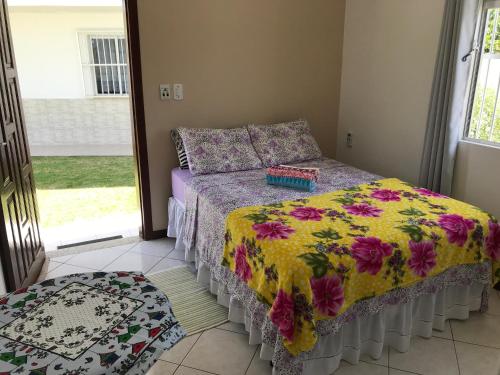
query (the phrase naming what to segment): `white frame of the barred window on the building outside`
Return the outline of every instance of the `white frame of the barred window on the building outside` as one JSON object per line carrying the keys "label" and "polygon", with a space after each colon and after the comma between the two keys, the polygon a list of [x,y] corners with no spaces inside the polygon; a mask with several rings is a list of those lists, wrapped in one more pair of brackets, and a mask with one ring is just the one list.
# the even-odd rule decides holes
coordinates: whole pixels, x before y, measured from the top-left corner
{"label": "white frame of the barred window on the building outside", "polygon": [[[82,65],[82,79],[83,87],[85,90],[85,96],[95,97],[95,98],[127,98],[130,92],[130,72],[128,67],[128,51],[126,51],[127,58],[125,63],[120,63],[118,60],[116,63],[112,64],[96,64],[93,61],[92,53],[92,38],[125,38],[125,33],[123,30],[80,30],[77,33],[78,45],[80,50],[80,61]],[[125,49],[127,49],[127,43],[125,43]],[[94,67],[96,66],[116,66],[118,69],[118,80],[120,85],[120,91],[124,84],[126,84],[127,93],[119,94],[99,94],[97,92],[97,77],[95,74]],[[120,67],[126,69],[127,71],[127,82],[123,82],[120,75]]]}

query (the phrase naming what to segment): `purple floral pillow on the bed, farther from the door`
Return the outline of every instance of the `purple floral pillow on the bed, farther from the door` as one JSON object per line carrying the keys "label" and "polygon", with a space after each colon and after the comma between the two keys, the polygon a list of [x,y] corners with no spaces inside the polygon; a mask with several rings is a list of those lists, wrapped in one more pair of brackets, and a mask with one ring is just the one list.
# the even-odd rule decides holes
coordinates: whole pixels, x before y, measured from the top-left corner
{"label": "purple floral pillow on the bed, farther from the door", "polygon": [[265,167],[321,158],[321,150],[305,120],[248,125],[248,132]]}

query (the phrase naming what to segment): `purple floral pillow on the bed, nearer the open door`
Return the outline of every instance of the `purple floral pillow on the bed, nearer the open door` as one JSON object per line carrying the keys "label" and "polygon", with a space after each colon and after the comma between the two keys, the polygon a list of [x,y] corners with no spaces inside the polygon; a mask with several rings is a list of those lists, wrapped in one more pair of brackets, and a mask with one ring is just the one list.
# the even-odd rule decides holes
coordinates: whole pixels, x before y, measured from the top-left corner
{"label": "purple floral pillow on the bed, nearer the open door", "polygon": [[179,128],[193,175],[262,168],[246,128]]}

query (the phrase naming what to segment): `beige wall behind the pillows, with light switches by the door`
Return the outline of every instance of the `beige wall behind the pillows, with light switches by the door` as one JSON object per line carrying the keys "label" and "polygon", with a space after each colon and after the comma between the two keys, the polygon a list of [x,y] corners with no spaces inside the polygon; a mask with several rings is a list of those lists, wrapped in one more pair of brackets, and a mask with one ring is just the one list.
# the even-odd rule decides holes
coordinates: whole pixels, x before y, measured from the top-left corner
{"label": "beige wall behind the pillows, with light switches by the door", "polygon": [[[177,165],[172,128],[304,117],[324,153],[335,155],[344,7],[345,0],[139,2],[155,230],[166,228]],[[160,83],[183,83],[184,101],[160,101]]]}

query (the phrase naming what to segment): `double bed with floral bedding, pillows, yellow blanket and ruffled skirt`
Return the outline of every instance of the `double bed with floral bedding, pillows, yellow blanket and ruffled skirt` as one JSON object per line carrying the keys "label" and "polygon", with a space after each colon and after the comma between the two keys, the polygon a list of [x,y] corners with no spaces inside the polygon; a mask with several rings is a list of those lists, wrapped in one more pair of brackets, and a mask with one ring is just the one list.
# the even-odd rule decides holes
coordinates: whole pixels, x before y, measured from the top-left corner
{"label": "double bed with floral bedding, pillows, yellow blanket and ruffled skirt", "polygon": [[[404,352],[487,309],[500,226],[486,212],[322,157],[305,120],[176,131],[189,172],[172,172],[169,236],[274,374]],[[283,164],[318,168],[316,191],[267,185]]]}

